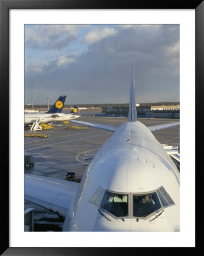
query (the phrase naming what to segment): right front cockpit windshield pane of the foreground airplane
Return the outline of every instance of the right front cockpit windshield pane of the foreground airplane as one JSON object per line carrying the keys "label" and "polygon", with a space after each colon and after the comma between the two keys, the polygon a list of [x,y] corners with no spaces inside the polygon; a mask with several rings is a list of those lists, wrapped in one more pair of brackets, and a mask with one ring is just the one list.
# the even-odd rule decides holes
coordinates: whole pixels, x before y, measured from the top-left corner
{"label": "right front cockpit windshield pane of the foreground airplane", "polygon": [[133,195],[133,216],[146,217],[161,208],[156,192]]}

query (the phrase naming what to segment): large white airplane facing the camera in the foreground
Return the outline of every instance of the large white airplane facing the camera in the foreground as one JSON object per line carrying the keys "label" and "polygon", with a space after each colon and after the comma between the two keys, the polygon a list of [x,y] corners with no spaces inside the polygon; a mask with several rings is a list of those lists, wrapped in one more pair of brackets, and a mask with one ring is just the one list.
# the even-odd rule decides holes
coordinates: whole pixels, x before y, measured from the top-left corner
{"label": "large white airplane facing the camera in the foreground", "polygon": [[180,173],[152,131],[180,122],[138,121],[133,61],[128,121],[72,122],[114,133],[80,183],[27,174],[24,199],[64,217],[63,232],[179,232]]}

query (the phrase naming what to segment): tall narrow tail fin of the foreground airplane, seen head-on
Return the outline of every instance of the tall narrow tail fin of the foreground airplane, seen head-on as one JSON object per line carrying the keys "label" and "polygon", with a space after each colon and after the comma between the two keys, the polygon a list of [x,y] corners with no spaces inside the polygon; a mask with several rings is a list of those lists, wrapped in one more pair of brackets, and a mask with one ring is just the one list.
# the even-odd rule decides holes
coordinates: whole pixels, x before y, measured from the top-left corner
{"label": "tall narrow tail fin of the foreground airplane, seen head-on", "polygon": [[131,85],[130,85],[130,103],[129,103],[129,113],[128,121],[137,121],[137,110],[135,104],[135,76],[134,76],[134,63],[132,61],[132,74],[131,74]]}

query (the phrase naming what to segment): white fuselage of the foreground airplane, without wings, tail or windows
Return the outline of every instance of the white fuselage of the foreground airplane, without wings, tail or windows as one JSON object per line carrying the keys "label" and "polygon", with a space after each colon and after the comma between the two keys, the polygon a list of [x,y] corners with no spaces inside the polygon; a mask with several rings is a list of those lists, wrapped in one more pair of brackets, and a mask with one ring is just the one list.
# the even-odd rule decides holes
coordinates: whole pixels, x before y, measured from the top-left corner
{"label": "white fuselage of the foreground airplane, without wings, tail or windows", "polygon": [[[105,191],[128,194],[127,217],[114,217],[99,205],[90,203],[99,186]],[[174,204],[147,218],[134,217],[132,196],[156,191],[161,186]],[[155,220],[150,221],[154,217]],[[179,230],[180,174],[177,167],[146,126],[139,121],[123,123],[86,169],[63,231]]]}

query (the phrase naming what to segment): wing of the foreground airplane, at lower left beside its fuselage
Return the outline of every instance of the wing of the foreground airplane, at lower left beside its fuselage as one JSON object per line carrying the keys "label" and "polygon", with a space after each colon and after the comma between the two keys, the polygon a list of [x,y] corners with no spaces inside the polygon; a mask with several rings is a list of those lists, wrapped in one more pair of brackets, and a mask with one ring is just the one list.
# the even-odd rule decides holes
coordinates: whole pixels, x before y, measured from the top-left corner
{"label": "wing of the foreground airplane, at lower left beside its fuselage", "polygon": [[80,184],[38,175],[25,175],[24,199],[65,217]]}

